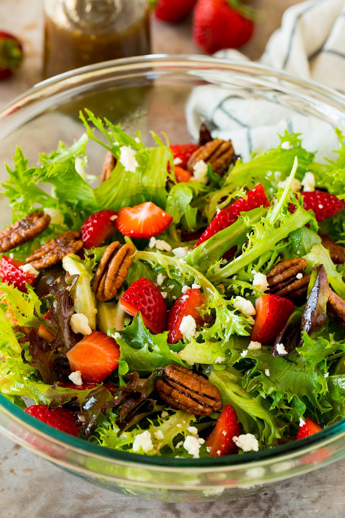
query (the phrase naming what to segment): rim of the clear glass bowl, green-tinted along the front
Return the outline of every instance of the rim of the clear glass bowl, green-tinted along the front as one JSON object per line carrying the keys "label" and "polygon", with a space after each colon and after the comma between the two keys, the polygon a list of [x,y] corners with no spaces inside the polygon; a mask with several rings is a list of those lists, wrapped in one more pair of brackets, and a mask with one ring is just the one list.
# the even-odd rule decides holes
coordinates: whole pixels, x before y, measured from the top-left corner
{"label": "rim of the clear glass bowl, green-tinted along the front", "polygon": [[[258,63],[224,60],[203,55],[153,54],[89,65],[37,83],[34,85],[34,87],[13,99],[9,104],[0,110],[0,127],[3,127],[4,129],[4,125],[6,125],[5,118],[10,116],[10,114],[14,111],[20,110],[20,108],[31,105],[36,101],[39,102],[42,99],[47,99],[51,95],[58,92],[66,91],[69,88],[72,88],[76,82],[81,83],[83,79],[85,81],[96,79],[95,76],[97,76],[97,73],[101,75],[104,73],[104,71],[107,71],[108,74],[122,71],[123,73],[129,74],[130,71],[140,70],[140,72],[143,74],[145,70],[147,72],[152,72],[154,69],[164,68],[169,70],[169,72],[171,72],[174,68],[177,70],[181,70],[181,68],[211,68],[238,73],[239,75],[243,75],[243,77],[247,77],[247,79],[250,76],[252,76],[254,80],[256,80],[256,78],[258,80],[265,78],[265,84],[267,84],[267,81],[271,81],[270,86],[272,88],[276,87],[277,85],[281,87],[283,84],[284,87],[280,88],[280,90],[283,90],[286,93],[290,93],[291,95],[298,94],[299,96],[301,96],[301,89],[303,91],[306,90],[303,92],[303,97],[305,99],[313,100],[313,102],[319,101],[321,103],[331,105],[332,107],[345,113],[345,96],[339,92],[331,88],[324,87],[317,82],[301,79],[284,71],[277,71],[273,68],[266,67]],[[248,76],[246,76],[246,74],[248,74]],[[288,89],[286,84],[289,85]],[[45,105],[44,108],[47,108],[47,105]],[[27,120],[23,122],[25,123]],[[6,136],[6,132],[0,132],[0,138],[2,138],[2,134]],[[135,465],[138,467],[140,467],[140,465],[145,465],[146,467],[151,466],[153,469],[155,466],[156,469],[159,469],[160,467],[164,467],[166,469],[183,468],[183,471],[188,469],[194,470],[198,468],[198,471],[200,472],[200,468],[202,468],[203,472],[207,472],[224,467],[242,469],[249,467],[249,464],[252,466],[252,463],[254,462],[264,462],[265,464],[269,465],[269,461],[276,462],[278,459],[283,457],[286,458],[289,456],[289,458],[291,458],[302,455],[304,453],[312,452],[319,448],[325,447],[326,445],[332,443],[334,440],[345,437],[345,419],[342,419],[341,421],[321,430],[318,434],[314,434],[302,440],[292,441],[273,449],[244,453],[242,455],[192,459],[191,462],[191,459],[187,458],[169,458],[163,456],[159,457],[147,455],[143,456],[136,453],[117,451],[70,436],[62,431],[37,421],[37,419],[23,412],[20,408],[16,407],[1,394],[0,412],[4,412],[13,418],[14,422],[20,422],[21,425],[24,424],[25,428],[27,428],[30,433],[44,437],[44,439],[50,440],[52,443],[55,443],[61,447],[68,446],[69,450],[74,451],[75,453],[86,454],[87,456],[98,458],[99,460],[103,459],[108,463],[110,462],[116,464],[120,462],[126,466]],[[2,429],[1,431],[13,440],[22,442],[22,440],[17,437],[13,431],[8,429]],[[39,453],[37,448],[34,447],[31,449],[36,451],[36,453]]]}

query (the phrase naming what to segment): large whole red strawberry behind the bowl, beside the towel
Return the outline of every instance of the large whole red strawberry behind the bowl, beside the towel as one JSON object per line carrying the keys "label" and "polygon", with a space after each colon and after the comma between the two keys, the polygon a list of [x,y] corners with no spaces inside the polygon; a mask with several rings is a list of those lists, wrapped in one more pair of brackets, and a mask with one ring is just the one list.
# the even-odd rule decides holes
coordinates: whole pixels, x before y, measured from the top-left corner
{"label": "large whole red strawberry behind the bowl, beside the towel", "polygon": [[242,47],[254,31],[252,20],[234,9],[234,0],[199,0],[193,15],[193,39],[205,52]]}

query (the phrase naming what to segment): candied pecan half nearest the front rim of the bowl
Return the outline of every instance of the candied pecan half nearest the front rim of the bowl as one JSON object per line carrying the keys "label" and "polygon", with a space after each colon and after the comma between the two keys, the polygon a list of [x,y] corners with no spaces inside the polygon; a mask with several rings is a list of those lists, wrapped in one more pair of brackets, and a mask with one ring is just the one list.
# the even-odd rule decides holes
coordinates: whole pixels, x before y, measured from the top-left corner
{"label": "candied pecan half nearest the front rim of the bowl", "polygon": [[190,414],[209,415],[222,406],[217,387],[181,365],[168,365],[155,387],[168,405]]}

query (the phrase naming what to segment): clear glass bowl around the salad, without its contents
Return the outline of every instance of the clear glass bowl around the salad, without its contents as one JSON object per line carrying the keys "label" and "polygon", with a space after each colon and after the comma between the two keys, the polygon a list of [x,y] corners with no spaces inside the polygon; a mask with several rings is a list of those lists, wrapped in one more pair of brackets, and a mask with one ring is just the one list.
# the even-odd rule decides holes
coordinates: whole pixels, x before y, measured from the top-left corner
{"label": "clear glass bowl around the salad, without its contents", "polygon": [[[247,63],[206,56],[146,56],[88,66],[44,81],[0,112],[0,163],[17,144],[37,161],[57,142],[83,132],[79,110],[121,123],[127,132],[165,132],[171,142],[196,139],[200,122],[231,139],[236,153],[276,147],[284,128],[303,133],[309,151],[336,147],[345,131],[345,97],[316,83]],[[92,142],[88,170],[103,155]],[[320,158],[320,157],[318,157]],[[6,170],[0,166],[1,180]],[[2,223],[10,220],[0,199]],[[93,484],[132,496],[173,502],[243,497],[345,456],[345,420],[311,437],[258,453],[218,458],[142,456],[102,448],[58,431],[0,396],[0,430],[25,448]]]}

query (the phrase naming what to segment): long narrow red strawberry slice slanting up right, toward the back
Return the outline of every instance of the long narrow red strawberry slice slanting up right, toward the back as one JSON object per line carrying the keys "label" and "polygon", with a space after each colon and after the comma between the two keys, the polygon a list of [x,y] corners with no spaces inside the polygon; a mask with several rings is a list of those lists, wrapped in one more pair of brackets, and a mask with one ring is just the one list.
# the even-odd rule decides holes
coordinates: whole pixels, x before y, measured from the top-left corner
{"label": "long narrow red strawberry slice slanting up right, toward the back", "polygon": [[262,183],[259,183],[251,191],[247,193],[247,199],[238,198],[235,203],[230,205],[227,209],[222,209],[218,214],[215,215],[211,223],[208,225],[204,233],[201,235],[193,248],[199,246],[199,244],[206,241],[210,237],[217,234],[217,232],[228,228],[228,226],[235,223],[240,212],[248,212],[249,210],[256,209],[257,207],[269,207],[268,199],[265,194]]}

